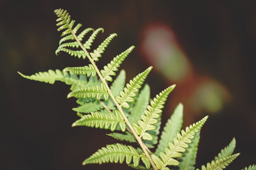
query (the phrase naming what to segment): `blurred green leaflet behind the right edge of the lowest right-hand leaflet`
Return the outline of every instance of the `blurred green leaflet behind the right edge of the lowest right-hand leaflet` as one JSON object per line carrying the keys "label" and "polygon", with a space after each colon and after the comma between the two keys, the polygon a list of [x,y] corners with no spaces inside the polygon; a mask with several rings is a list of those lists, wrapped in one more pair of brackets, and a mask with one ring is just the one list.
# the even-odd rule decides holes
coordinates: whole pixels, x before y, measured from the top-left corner
{"label": "blurred green leaflet behind the right edge of the lowest right-hand leaflet", "polygon": [[200,139],[200,132],[196,133],[195,138],[192,139],[192,143],[189,144],[189,148],[183,154],[183,157],[178,158],[180,162],[178,165],[179,170],[194,170],[195,159],[198,149],[198,143]]}

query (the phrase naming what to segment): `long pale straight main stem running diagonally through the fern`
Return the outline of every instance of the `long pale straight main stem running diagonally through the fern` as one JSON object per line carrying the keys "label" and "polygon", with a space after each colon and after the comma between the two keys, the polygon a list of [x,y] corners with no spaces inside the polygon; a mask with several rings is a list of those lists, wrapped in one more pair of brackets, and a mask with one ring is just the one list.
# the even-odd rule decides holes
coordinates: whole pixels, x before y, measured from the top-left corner
{"label": "long pale straight main stem running diagonally through the fern", "polygon": [[80,40],[77,38],[76,34],[72,31],[71,28],[69,28],[71,30],[71,34],[75,37],[75,40],[78,42],[78,44],[80,45],[80,47],[82,48],[82,50],[85,52],[87,58],[90,60],[91,64],[93,65],[93,67],[95,68],[97,74],[99,75],[102,83],[105,84],[107,91],[109,92],[110,97],[112,98],[113,102],[116,104],[116,107],[118,108],[118,110],[121,112],[121,114],[123,115],[126,124],[128,125],[128,127],[130,128],[130,130],[132,131],[133,135],[135,136],[135,138],[137,139],[137,141],[140,144],[140,147],[142,148],[142,150],[144,151],[146,157],[149,159],[150,164],[152,165],[154,170],[157,170],[155,163],[153,162],[153,160],[151,159],[149,153],[147,152],[147,149],[145,148],[144,143],[142,142],[141,138],[136,134],[135,130],[133,129],[133,127],[131,126],[129,120],[127,119],[127,117],[125,116],[125,113],[122,109],[122,107],[117,103],[115,97],[113,96],[110,88],[108,87],[108,84],[106,83],[106,80],[103,78],[103,76],[101,75],[101,72],[99,71],[98,67],[96,66],[95,62],[93,61],[93,59],[91,58],[90,54],[87,52],[86,48],[81,44]]}

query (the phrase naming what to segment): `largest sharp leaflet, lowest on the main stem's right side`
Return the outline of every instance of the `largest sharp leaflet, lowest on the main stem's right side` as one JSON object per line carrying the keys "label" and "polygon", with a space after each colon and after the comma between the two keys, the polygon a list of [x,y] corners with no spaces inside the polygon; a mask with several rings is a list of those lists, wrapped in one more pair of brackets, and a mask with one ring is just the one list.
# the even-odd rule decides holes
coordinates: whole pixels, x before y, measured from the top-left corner
{"label": "largest sharp leaflet, lowest on the main stem's right side", "polygon": [[181,134],[177,133],[177,138],[173,138],[173,143],[168,142],[168,148],[165,148],[165,153],[160,152],[159,157],[157,157],[155,154],[151,155],[151,158],[153,162],[155,163],[156,167],[158,169],[164,170],[167,165],[174,165],[177,166],[180,164],[179,161],[175,160],[174,158],[180,158],[182,157],[182,152],[185,152],[189,145],[187,143],[191,143],[191,139],[194,139],[194,136],[196,132],[199,132],[199,130],[204,125],[205,121],[207,120],[208,116],[205,116],[202,120],[199,122],[194,123],[193,125],[190,125],[189,127],[186,127],[186,131],[181,130]]}

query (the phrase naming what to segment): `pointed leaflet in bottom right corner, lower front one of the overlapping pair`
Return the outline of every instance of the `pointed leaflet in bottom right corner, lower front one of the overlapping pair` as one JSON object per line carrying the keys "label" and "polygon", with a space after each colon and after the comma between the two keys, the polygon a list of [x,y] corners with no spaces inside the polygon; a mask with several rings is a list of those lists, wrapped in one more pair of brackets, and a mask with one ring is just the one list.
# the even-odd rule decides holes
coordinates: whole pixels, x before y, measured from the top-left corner
{"label": "pointed leaflet in bottom right corner, lower front one of the overlapping pair", "polygon": [[[233,162],[233,160],[235,158],[237,158],[240,155],[240,153],[236,153],[234,155],[231,155],[229,157],[225,157],[225,158],[220,158],[217,160],[212,160],[211,163],[207,163],[206,167],[203,165],[202,166],[202,170],[223,170],[225,169],[227,166],[229,166],[229,164],[231,162]],[[199,170],[199,169],[196,169]]]}

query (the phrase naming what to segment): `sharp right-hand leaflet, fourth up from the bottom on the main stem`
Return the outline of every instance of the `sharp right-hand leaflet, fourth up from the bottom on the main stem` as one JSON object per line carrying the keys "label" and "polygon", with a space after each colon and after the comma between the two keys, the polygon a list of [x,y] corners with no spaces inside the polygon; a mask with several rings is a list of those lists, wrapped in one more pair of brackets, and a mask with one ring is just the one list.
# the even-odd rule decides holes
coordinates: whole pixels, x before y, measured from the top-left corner
{"label": "sharp right-hand leaflet, fourth up from the bottom on the main stem", "polygon": [[124,61],[124,59],[128,56],[128,54],[131,53],[131,51],[135,48],[135,46],[131,46],[129,49],[127,49],[125,52],[122,52],[121,54],[114,57],[114,59],[104,66],[104,70],[101,70],[101,74],[104,77],[105,80],[112,82],[113,79],[111,76],[115,76],[115,71],[118,71],[118,67],[120,67],[120,64]]}

